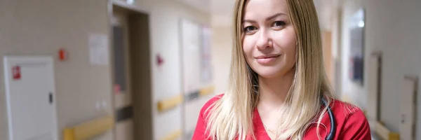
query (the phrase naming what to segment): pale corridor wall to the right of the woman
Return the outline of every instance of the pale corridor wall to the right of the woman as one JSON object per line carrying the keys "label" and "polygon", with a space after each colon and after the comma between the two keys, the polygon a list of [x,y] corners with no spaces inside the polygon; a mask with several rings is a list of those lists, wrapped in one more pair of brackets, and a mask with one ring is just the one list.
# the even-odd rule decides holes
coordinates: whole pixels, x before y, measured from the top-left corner
{"label": "pale corridor wall to the right of the woman", "polygon": [[[421,77],[421,1],[358,0],[345,1],[342,16],[342,94],[349,94],[362,107],[366,102],[366,87],[357,87],[347,80],[347,50],[349,31],[347,21],[361,6],[366,8],[366,55],[372,50],[383,54],[380,119],[390,130],[399,132],[399,94],[403,76]],[[368,63],[364,65],[368,71]],[[364,76],[367,81],[368,76]],[[366,84],[365,84],[366,86]],[[420,85],[418,85],[420,87]],[[418,96],[418,102],[421,100]],[[409,102],[409,101],[408,101]],[[417,109],[417,137],[421,137],[421,104]]]}

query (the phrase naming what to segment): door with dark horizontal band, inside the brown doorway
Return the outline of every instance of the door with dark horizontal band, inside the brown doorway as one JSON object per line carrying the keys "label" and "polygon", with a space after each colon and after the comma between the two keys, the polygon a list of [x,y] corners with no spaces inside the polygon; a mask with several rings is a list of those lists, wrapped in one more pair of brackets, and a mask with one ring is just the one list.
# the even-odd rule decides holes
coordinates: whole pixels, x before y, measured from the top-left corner
{"label": "door with dark horizontal band, inside the brown doorway", "polygon": [[133,139],[133,104],[128,13],[122,8],[114,7],[112,18],[115,137],[119,140],[131,140]]}

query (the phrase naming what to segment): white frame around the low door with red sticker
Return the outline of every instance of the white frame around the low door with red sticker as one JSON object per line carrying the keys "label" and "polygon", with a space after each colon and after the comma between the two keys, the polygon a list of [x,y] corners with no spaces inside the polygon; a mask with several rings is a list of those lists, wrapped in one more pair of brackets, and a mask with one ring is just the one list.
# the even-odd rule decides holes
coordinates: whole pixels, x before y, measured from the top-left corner
{"label": "white frame around the low door with red sticker", "polygon": [[[6,89],[6,108],[7,108],[7,118],[8,118],[8,139],[13,139],[13,124],[11,117],[11,91],[9,89],[9,86],[11,83],[9,83],[9,79],[11,78],[11,67],[9,65],[11,64],[28,64],[28,63],[41,63],[41,64],[47,64],[54,72],[54,60],[53,57],[49,56],[4,56],[4,83],[5,83],[5,89]],[[51,92],[53,94],[53,101],[57,101],[56,99],[56,91],[55,91],[55,75],[53,73],[53,89],[51,89]],[[55,134],[55,139],[60,139],[58,135],[58,118],[57,118],[57,102],[53,102],[53,132]]]}

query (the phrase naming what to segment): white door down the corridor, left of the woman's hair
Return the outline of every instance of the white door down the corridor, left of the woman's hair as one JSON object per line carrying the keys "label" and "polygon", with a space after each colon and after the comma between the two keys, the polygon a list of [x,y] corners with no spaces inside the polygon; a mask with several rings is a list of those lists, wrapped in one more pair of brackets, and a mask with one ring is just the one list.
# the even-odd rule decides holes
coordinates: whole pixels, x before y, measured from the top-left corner
{"label": "white door down the corridor, left of the woman's hair", "polygon": [[[182,131],[185,139],[192,139],[197,116],[203,105],[193,99],[199,97],[197,92],[201,83],[201,36],[200,25],[189,20],[182,20],[182,85],[186,99],[182,109]],[[202,66],[203,67],[203,66]],[[202,71],[203,72],[203,71]],[[196,93],[194,93],[196,92]],[[194,95],[196,94],[196,95]]]}

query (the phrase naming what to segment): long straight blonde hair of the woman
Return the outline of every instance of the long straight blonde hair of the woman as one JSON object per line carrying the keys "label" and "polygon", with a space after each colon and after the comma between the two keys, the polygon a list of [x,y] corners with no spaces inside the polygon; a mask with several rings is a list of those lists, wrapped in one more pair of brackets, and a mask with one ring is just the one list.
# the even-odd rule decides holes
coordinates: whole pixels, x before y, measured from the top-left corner
{"label": "long straight blonde hair of the woman", "polygon": [[[317,132],[328,104],[335,99],[323,66],[321,33],[312,0],[286,0],[289,19],[297,38],[297,59],[290,87],[279,120],[277,139],[302,139],[310,124],[317,121]],[[237,0],[234,8],[234,47],[227,92],[214,102],[209,111],[206,131],[211,139],[255,139],[253,109],[258,103],[258,76],[248,66],[242,49],[242,27],[246,0]],[[319,139],[321,138],[318,134]]]}

